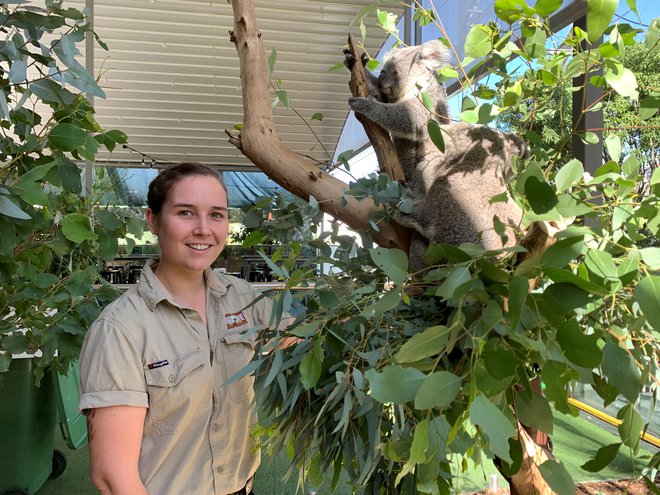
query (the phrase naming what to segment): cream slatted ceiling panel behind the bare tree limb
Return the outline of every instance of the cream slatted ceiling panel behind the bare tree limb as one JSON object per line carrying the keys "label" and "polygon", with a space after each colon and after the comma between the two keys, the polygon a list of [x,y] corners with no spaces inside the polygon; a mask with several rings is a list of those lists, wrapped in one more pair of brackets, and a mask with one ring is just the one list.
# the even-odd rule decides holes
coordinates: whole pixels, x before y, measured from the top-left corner
{"label": "cream slatted ceiling panel behind the bare tree limb", "polygon": [[[240,0],[235,0],[240,1]],[[84,7],[84,0],[65,2]],[[199,161],[223,168],[251,166],[228,143],[225,129],[242,120],[238,56],[229,41],[227,0],[93,0],[94,30],[109,51],[94,48],[92,72],[107,98],[96,98],[97,120],[128,134],[127,148],[101,153],[98,164]],[[349,31],[360,39],[356,14],[373,0],[256,0],[267,54],[277,52],[275,77],[293,110],[275,110],[277,131],[292,150],[319,161],[332,156],[348,114],[348,71],[341,62]],[[90,4],[90,0],[87,0]],[[402,11],[392,0],[387,8]],[[365,47],[375,55],[386,35],[367,21]],[[321,112],[321,122],[311,116]],[[325,148],[325,151],[324,151]]]}

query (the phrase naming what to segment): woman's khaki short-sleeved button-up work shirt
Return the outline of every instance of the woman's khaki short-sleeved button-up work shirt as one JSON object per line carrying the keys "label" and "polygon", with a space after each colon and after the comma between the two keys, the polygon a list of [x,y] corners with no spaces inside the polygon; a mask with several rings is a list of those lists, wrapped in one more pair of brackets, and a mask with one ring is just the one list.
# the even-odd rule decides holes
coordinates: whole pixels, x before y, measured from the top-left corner
{"label": "woman's khaki short-sleeved button-up work shirt", "polygon": [[154,495],[232,493],[259,465],[250,435],[254,378],[225,382],[250,362],[271,302],[250,306],[259,293],[244,280],[210,269],[204,276],[208,329],[148,264],[140,283],[92,324],[82,348],[81,410],[147,408],[139,470]]}

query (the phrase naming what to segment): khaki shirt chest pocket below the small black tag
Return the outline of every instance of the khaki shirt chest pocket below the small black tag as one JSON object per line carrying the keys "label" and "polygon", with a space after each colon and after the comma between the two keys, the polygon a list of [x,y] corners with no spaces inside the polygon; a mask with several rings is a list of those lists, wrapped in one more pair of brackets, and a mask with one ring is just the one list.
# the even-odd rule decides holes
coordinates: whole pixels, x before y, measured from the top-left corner
{"label": "khaki shirt chest pocket below the small black tag", "polygon": [[205,359],[200,349],[168,358],[165,366],[144,374],[149,393],[149,421],[163,435],[199,421],[210,408],[210,379],[204,371]]}

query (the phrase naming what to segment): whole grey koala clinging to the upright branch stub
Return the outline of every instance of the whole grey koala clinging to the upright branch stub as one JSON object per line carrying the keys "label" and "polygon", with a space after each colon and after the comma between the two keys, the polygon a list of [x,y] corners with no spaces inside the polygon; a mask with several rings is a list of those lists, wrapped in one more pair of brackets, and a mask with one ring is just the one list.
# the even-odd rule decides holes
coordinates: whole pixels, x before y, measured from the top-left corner
{"label": "whole grey koala clinging to the upright branch stub", "polygon": [[[450,121],[447,93],[437,80],[438,69],[448,58],[439,41],[393,49],[380,75],[367,76],[374,85],[370,96],[348,100],[352,110],[389,131],[406,187],[419,198],[410,214],[397,217],[415,230],[410,249],[413,269],[425,266],[423,256],[430,241],[474,242],[485,249],[513,245],[515,227],[522,218],[521,209],[510,198],[492,204],[490,199],[506,191],[511,161],[525,156],[526,147],[512,134]],[[346,57],[349,68],[354,62]],[[434,114],[422,104],[421,92],[432,98]],[[440,124],[444,152],[428,135],[430,118]],[[507,226],[505,243],[494,230],[494,216]]]}

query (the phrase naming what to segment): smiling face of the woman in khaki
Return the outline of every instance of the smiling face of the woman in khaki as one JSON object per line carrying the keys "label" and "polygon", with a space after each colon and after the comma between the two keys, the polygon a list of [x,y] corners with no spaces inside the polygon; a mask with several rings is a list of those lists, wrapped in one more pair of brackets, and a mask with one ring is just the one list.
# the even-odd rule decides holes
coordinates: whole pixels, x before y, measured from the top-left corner
{"label": "smiling face of the woman in khaki", "polygon": [[214,177],[184,177],[169,190],[158,215],[147,210],[147,223],[158,236],[159,270],[201,272],[227,242],[227,193]]}

